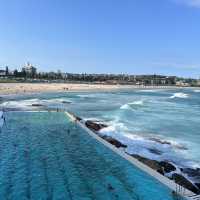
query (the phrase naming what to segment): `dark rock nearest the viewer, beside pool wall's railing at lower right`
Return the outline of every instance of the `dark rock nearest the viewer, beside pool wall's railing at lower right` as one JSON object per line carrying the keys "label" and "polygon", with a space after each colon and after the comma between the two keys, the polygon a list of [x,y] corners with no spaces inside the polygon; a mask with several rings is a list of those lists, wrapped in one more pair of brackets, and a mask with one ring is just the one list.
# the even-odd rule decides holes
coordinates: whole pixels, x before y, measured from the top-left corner
{"label": "dark rock nearest the viewer, beside pool wall's railing at lower right", "polygon": [[200,193],[200,190],[181,174],[174,173],[172,178],[177,184],[183,186],[184,188],[187,188],[196,194]]}

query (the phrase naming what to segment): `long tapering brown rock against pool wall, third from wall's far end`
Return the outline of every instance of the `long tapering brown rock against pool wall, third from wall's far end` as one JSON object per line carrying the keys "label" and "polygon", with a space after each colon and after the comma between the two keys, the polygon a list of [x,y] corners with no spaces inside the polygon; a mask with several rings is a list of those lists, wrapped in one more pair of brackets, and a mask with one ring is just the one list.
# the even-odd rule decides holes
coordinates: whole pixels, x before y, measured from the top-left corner
{"label": "long tapering brown rock against pool wall, third from wall's far end", "polygon": [[140,162],[144,163],[145,165],[149,166],[150,168],[156,170],[160,174],[164,175],[163,168],[162,168],[162,166],[160,165],[160,163],[158,161],[151,160],[151,159],[148,159],[148,158],[136,155],[136,154],[133,154],[131,156],[133,156],[134,158],[136,158]]}

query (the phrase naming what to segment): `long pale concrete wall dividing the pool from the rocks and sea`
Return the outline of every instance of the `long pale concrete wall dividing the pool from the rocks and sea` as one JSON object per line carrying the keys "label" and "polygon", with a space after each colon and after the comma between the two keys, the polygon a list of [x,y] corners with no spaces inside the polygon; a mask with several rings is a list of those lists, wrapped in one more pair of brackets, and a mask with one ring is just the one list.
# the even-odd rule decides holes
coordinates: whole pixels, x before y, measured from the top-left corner
{"label": "long pale concrete wall dividing the pool from the rocks and sea", "polygon": [[[193,193],[192,191],[190,191],[190,190],[188,190],[186,188],[183,188],[182,186],[178,185],[174,181],[172,181],[172,180],[168,179],[167,177],[161,175],[160,173],[158,173],[157,171],[153,170],[149,166],[143,164],[142,162],[138,161],[137,159],[133,158],[132,156],[128,155],[127,153],[125,153],[123,151],[121,151],[120,149],[118,149],[114,145],[110,144],[106,140],[104,140],[101,137],[99,137],[97,134],[95,134],[93,131],[91,131],[89,128],[87,128],[85,126],[85,124],[83,122],[81,122],[79,120],[79,118],[76,117],[74,114],[72,114],[72,113],[70,113],[68,111],[66,111],[65,114],[67,115],[67,117],[71,121],[75,122],[79,127],[84,129],[91,137],[93,137],[98,142],[102,143],[103,145],[105,145],[106,147],[111,149],[114,153],[117,153],[119,156],[121,156],[125,160],[129,161],[135,167],[137,167],[140,170],[144,171],[145,173],[149,174],[150,176],[152,176],[153,178],[158,180],[163,185],[167,186],[173,193],[176,192],[178,195],[184,197],[187,200],[192,200],[193,199],[192,197],[196,196],[196,194]],[[177,188],[181,188],[181,187],[183,188],[182,190],[177,190]]]}

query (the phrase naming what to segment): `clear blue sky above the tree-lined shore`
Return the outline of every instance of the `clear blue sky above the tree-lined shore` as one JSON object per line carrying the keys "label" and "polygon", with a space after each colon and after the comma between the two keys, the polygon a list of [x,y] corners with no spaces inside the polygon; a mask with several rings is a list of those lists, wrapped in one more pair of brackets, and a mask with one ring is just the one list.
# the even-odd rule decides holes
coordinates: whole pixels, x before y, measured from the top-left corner
{"label": "clear blue sky above the tree-lined shore", "polygon": [[0,67],[200,76],[200,0],[0,0]]}

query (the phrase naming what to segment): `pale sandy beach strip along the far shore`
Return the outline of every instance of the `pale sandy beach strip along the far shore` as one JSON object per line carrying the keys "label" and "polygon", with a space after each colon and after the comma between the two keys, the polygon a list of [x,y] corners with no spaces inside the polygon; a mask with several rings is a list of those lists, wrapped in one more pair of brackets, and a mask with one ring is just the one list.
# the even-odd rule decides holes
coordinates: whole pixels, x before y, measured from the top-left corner
{"label": "pale sandy beach strip along the far shore", "polygon": [[103,91],[134,88],[174,88],[174,86],[135,86],[106,84],[75,84],[75,83],[0,83],[0,94],[23,94],[38,92],[76,92]]}

